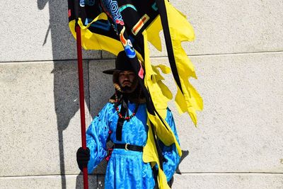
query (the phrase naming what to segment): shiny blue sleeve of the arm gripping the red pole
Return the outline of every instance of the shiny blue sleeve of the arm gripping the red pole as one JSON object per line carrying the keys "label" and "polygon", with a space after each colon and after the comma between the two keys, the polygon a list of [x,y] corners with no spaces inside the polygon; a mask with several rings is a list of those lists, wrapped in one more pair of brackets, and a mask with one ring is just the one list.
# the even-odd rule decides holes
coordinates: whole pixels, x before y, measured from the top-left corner
{"label": "shiny blue sleeve of the arm gripping the red pole", "polygon": [[110,125],[110,108],[111,103],[107,103],[100,113],[93,119],[88,130],[86,130],[86,146],[91,151],[91,157],[88,161],[88,173],[92,173],[94,168],[105,158],[107,155],[106,142],[109,135]]}

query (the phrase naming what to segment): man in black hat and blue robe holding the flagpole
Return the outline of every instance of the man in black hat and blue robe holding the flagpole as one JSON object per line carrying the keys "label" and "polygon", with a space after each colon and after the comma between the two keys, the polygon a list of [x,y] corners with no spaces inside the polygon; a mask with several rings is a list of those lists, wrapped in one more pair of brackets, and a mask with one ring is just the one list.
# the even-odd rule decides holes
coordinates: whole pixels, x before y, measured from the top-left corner
{"label": "man in black hat and blue robe holding the flagpole", "polygon": [[[117,55],[115,69],[103,71],[112,74],[115,94],[88,127],[87,149],[78,149],[77,162],[81,170],[87,165],[88,173],[92,173],[100,161],[108,159],[105,188],[156,188],[156,165],[144,163],[142,158],[149,131],[146,125],[146,101],[130,65],[122,51]],[[169,108],[166,122],[178,140]],[[108,141],[114,143],[110,156],[106,145]],[[175,144],[168,147],[158,141],[158,145],[164,157],[163,172],[167,181],[170,181],[180,157]]]}

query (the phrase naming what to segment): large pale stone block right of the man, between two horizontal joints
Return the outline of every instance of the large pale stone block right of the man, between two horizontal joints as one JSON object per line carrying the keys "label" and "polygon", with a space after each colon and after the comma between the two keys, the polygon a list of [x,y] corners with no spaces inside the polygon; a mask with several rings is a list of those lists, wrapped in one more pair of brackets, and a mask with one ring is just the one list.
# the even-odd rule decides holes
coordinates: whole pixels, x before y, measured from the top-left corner
{"label": "large pale stone block right of the man, between two horizontal joints", "polygon": [[180,171],[282,173],[283,53],[191,59],[204,110],[195,128],[173,108],[181,147],[190,151]]}

